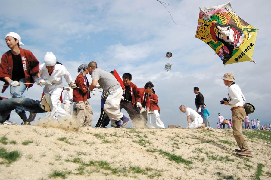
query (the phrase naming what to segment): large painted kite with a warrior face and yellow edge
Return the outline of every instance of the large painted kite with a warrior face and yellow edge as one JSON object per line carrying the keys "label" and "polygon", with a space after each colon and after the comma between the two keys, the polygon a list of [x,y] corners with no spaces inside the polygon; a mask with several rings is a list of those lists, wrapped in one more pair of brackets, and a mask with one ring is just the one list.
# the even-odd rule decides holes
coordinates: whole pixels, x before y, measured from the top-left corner
{"label": "large painted kite with a warrior face and yellow edge", "polygon": [[257,32],[235,14],[228,2],[200,8],[195,37],[208,44],[226,65],[253,61]]}

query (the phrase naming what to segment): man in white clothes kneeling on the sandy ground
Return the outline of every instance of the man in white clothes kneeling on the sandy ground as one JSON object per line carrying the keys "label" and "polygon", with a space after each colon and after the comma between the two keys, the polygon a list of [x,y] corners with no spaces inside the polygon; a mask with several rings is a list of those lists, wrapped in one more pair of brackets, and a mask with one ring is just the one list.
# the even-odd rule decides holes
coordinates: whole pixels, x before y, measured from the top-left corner
{"label": "man in white clothes kneeling on the sandy ground", "polygon": [[195,110],[192,110],[189,107],[186,108],[184,105],[180,106],[180,110],[183,113],[186,113],[187,116],[188,126],[186,127],[186,129],[197,129],[197,128],[205,129],[205,124],[202,124],[203,119],[201,115],[199,115]]}

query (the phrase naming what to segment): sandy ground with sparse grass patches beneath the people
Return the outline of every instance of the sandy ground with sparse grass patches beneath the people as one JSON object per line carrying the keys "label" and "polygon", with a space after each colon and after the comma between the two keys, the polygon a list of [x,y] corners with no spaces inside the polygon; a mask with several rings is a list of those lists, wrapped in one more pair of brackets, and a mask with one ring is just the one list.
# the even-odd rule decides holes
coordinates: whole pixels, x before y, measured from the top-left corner
{"label": "sandy ground with sparse grass patches beneath the people", "polygon": [[[254,179],[258,163],[264,165],[261,179],[271,179],[266,174],[271,173],[268,140],[248,139],[253,157],[247,158],[235,155],[237,144],[230,130],[73,131],[66,128],[70,122],[65,123],[61,123],[62,128],[45,122],[32,126],[0,125],[0,138],[6,135],[8,142],[0,146],[21,153],[10,164],[0,158],[0,179],[50,179],[53,171],[64,172],[66,179]],[[26,140],[33,143],[23,145]],[[177,155],[184,162],[174,161],[163,152]]]}

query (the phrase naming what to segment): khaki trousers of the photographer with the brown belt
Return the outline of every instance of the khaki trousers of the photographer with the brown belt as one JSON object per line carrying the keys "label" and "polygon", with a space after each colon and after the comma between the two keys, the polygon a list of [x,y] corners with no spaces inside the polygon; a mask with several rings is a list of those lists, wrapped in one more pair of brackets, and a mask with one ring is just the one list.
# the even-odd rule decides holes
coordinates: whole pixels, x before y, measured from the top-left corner
{"label": "khaki trousers of the photographer with the brown belt", "polygon": [[242,134],[242,124],[245,117],[245,109],[235,109],[232,111],[233,137],[235,138],[241,151],[250,151],[245,136]]}

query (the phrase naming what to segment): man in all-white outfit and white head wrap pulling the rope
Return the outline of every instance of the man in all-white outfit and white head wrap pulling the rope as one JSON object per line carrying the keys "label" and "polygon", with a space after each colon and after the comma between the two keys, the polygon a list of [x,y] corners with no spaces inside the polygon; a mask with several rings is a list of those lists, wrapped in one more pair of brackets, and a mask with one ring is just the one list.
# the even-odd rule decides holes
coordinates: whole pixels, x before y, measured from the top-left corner
{"label": "man in all-white outfit and white head wrap pulling the rope", "polygon": [[[44,63],[39,66],[39,73],[42,79],[45,80],[43,92],[45,95],[50,95],[52,99],[53,110],[50,113],[50,117],[58,120],[58,116],[69,116],[64,109],[58,107],[58,101],[63,90],[62,77],[66,79],[66,82],[69,83],[72,89],[76,88],[66,67],[56,64],[55,55],[52,52],[47,52],[44,56]],[[37,77],[35,77],[35,81],[38,81]]]}

